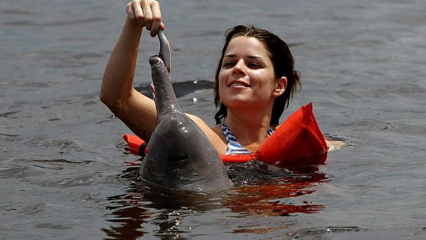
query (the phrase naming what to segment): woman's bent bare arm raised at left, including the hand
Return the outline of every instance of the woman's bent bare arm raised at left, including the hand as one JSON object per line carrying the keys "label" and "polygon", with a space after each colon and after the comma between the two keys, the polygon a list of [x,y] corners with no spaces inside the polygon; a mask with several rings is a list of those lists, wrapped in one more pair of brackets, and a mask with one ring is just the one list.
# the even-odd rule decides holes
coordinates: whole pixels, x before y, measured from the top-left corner
{"label": "woman's bent bare arm raised at left, including the hand", "polygon": [[126,12],[122,32],[106,65],[100,99],[137,136],[148,141],[157,112],[154,101],[133,88],[137,51],[143,27],[151,31],[151,36],[165,27],[155,0],[133,0],[126,5]]}

